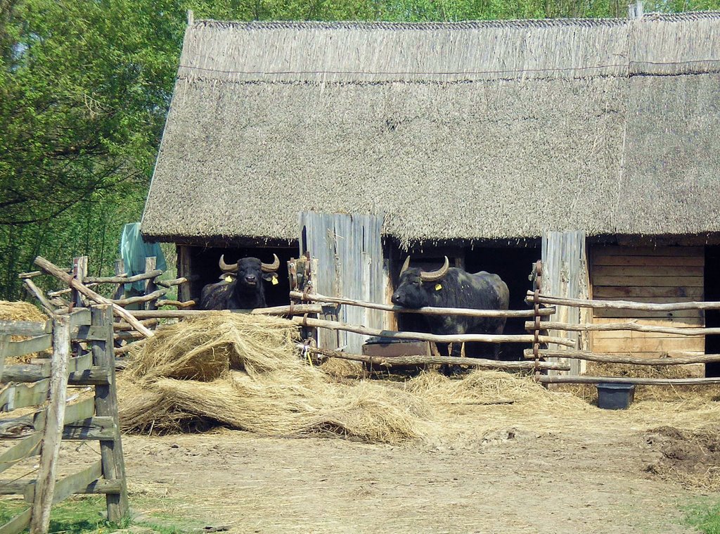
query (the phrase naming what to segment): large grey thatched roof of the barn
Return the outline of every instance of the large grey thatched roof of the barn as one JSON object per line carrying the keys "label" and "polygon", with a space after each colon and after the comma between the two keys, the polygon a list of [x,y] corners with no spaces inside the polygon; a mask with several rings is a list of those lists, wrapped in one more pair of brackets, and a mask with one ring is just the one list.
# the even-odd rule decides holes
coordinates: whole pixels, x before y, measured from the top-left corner
{"label": "large grey thatched roof of the barn", "polygon": [[143,233],[720,231],[720,14],[188,26]]}

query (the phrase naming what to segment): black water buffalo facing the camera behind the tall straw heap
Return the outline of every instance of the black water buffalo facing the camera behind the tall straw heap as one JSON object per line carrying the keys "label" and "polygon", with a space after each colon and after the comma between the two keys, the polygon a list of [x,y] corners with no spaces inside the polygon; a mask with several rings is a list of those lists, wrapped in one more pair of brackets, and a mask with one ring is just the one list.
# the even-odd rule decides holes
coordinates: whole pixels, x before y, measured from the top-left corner
{"label": "black water buffalo facing the camera behind the tall straw heap", "polygon": [[220,269],[226,274],[224,280],[202,288],[201,310],[245,310],[264,308],[265,290],[262,280],[277,277],[280,259],[263,263],[257,258],[243,258],[237,263],[226,264],[225,254],[220,257]]}

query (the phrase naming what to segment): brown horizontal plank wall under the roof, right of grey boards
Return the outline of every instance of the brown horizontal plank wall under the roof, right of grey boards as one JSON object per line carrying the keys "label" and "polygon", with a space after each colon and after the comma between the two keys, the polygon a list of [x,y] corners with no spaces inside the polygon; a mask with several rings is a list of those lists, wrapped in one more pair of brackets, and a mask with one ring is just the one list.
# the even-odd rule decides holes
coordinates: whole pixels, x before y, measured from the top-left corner
{"label": "brown horizontal plank wall under the roof, right of grey boards", "polygon": [[[590,276],[593,298],[647,303],[703,300],[705,252],[701,246],[594,246]],[[595,323],[705,326],[702,311],[595,310]],[[673,337],[636,331],[599,331],[590,337],[594,352],[633,352],[658,357],[705,350],[704,337]]]}

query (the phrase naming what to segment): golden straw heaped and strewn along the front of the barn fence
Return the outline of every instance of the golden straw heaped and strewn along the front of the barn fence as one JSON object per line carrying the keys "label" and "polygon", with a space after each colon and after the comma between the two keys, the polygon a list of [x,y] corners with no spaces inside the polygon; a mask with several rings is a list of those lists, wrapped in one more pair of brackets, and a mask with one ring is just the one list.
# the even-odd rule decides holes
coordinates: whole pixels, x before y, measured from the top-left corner
{"label": "golden straw heaped and strewn along the front of the barn fence", "polygon": [[[596,371],[610,374],[607,368]],[[711,434],[708,424],[720,420],[720,397],[706,386],[675,388],[663,400],[636,396],[630,409],[615,411],[598,409],[596,394],[583,399],[511,373],[474,370],[446,378],[427,371],[394,378],[366,378],[359,363],[344,360],[309,365],[289,321],[218,312],[165,326],[148,339],[121,375],[120,416],[130,432],[220,424],[266,436],[337,435],[429,445],[472,444],[516,429],[612,435],[622,428],[642,436],[660,422],[698,436]],[[683,484],[715,487],[714,468],[706,465],[711,474],[696,480],[695,467],[670,464],[657,464],[660,475],[652,466],[649,473],[682,472]]]}

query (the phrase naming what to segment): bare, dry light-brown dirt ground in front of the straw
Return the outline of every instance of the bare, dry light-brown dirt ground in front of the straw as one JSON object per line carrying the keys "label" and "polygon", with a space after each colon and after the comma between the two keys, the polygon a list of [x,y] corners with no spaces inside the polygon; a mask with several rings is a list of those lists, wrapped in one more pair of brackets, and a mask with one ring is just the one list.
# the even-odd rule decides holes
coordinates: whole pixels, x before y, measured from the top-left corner
{"label": "bare, dry light-brown dirt ground in front of the straw", "polygon": [[464,407],[463,435],[401,446],[231,430],[127,435],[130,498],[167,497],[177,513],[233,533],[694,532],[679,507],[709,493],[659,478],[672,460],[667,427],[596,410],[580,423],[538,416],[473,432],[488,409],[503,408]]}

